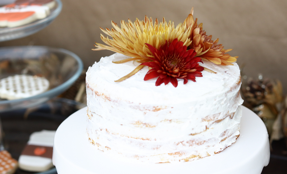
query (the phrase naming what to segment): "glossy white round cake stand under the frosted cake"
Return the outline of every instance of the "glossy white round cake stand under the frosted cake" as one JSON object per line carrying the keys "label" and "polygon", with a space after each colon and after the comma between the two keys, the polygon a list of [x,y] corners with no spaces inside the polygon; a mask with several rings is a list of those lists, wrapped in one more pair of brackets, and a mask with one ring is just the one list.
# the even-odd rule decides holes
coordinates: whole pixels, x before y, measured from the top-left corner
{"label": "glossy white round cake stand under the frosted cake", "polygon": [[57,129],[53,164],[58,174],[260,174],[268,165],[270,151],[266,127],[251,110],[243,107],[241,135],[219,154],[182,163],[141,163],[115,159],[88,143],[86,110],[68,117]]}

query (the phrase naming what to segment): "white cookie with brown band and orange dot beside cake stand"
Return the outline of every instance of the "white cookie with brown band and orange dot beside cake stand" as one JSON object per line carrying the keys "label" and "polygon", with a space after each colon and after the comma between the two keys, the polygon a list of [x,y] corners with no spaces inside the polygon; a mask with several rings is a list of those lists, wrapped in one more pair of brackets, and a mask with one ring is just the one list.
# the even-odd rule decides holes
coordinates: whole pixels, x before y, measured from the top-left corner
{"label": "white cookie with brown band and orange dot beside cake stand", "polygon": [[41,172],[53,167],[52,155],[56,131],[42,130],[31,134],[19,157],[19,168],[26,171]]}

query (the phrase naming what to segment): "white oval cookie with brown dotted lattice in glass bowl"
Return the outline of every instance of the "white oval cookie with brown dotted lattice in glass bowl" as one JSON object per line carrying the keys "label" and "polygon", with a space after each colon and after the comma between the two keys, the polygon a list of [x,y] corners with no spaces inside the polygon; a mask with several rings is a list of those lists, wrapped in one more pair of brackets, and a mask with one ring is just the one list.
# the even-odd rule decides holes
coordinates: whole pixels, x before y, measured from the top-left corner
{"label": "white oval cookie with brown dotted lattice in glass bowl", "polygon": [[[35,96],[49,88],[46,78],[31,75],[15,75],[0,80],[0,98],[15,100]],[[1,174],[1,173],[0,173]]]}

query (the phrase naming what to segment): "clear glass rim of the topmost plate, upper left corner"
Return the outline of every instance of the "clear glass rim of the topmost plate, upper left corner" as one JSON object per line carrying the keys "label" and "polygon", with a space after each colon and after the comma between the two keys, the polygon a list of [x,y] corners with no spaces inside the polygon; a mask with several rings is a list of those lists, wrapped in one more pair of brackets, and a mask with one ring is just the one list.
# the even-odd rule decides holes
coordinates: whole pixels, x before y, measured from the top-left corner
{"label": "clear glass rim of the topmost plate, upper left corner", "polygon": [[0,42],[29,36],[48,26],[62,10],[62,2],[60,0],[55,1],[57,6],[51,9],[51,14],[47,18],[18,27],[0,28]]}

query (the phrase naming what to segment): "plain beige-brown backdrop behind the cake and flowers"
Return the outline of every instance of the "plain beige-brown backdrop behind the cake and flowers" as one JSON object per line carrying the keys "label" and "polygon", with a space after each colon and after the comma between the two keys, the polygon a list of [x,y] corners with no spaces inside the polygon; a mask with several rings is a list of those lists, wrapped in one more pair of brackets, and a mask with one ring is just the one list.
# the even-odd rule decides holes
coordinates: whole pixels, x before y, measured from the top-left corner
{"label": "plain beige-brown backdrop behind the cake and flowers", "polygon": [[111,51],[92,51],[101,42],[100,29],[111,28],[111,20],[132,21],[147,15],[160,21],[164,16],[177,25],[191,7],[194,17],[225,49],[232,48],[237,63],[245,64],[244,74],[278,78],[287,92],[287,1],[274,0],[62,0],[56,20],[31,36],[0,42],[0,46],[46,45],[70,50],[82,58],[85,68]]}

